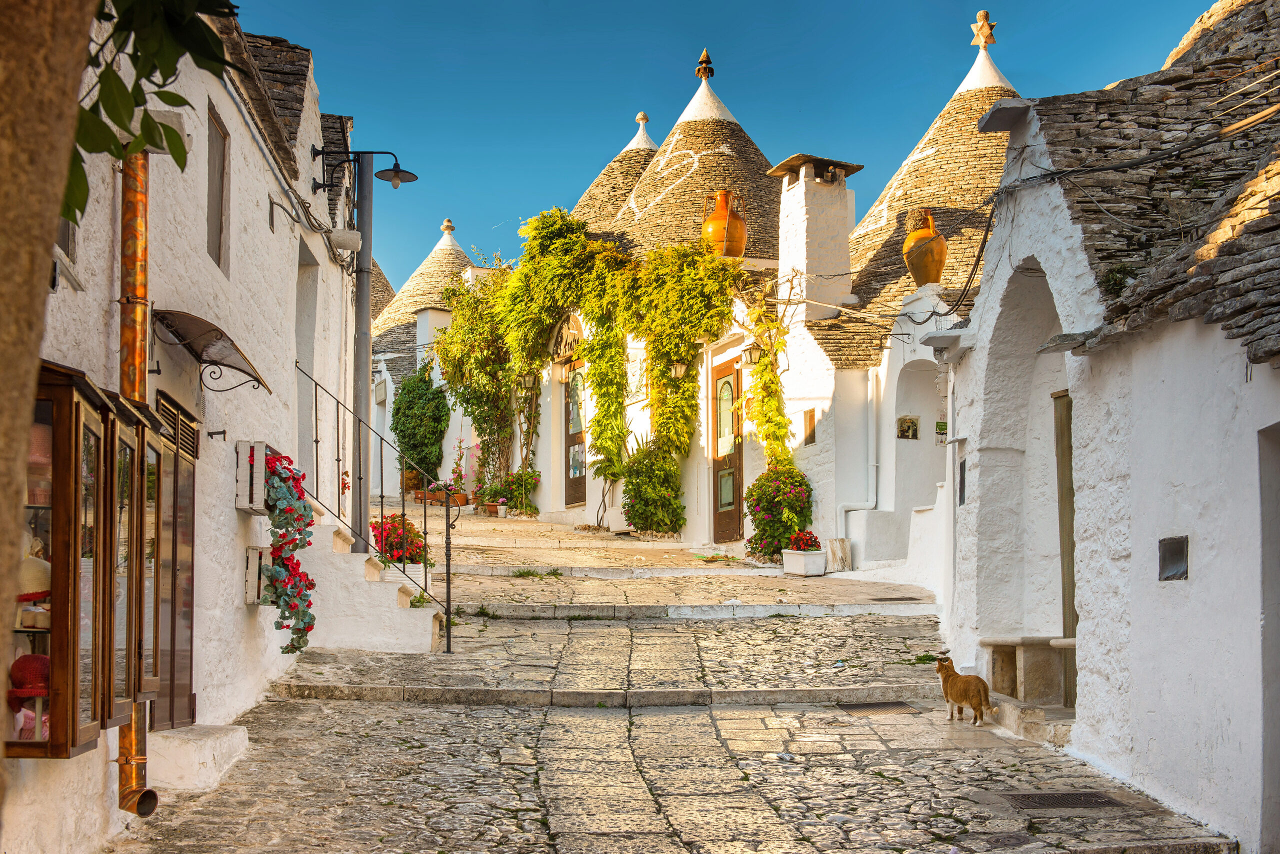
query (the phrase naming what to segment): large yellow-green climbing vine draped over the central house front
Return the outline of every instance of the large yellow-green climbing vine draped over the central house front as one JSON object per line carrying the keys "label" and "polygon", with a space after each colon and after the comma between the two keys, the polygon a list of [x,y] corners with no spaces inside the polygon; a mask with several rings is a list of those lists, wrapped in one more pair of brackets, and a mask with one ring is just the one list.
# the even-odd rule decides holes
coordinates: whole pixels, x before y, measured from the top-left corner
{"label": "large yellow-green climbing vine draped over the central house front", "polygon": [[[504,446],[495,437],[488,444],[481,439],[483,477],[488,482],[509,469],[517,408],[521,465],[532,468],[539,404],[515,390],[521,376],[547,368],[552,338],[576,313],[585,334],[576,358],[586,362],[594,401],[588,424],[591,473],[604,479],[605,490],[623,477],[634,479],[632,506],[639,496],[673,501],[641,515],[644,524],[677,531],[684,524],[678,458],[689,454],[698,427],[700,353],[730,326],[733,294],[745,280],[740,263],[716,256],[705,243],[659,247],[635,260],[617,244],[590,239],[586,222],[563,208],[527,220],[520,234],[525,245],[515,270],[447,291],[453,322],[436,339],[449,395],[477,430],[486,419],[488,430],[502,424],[506,431]],[[634,464],[626,450],[631,339],[645,345],[652,433]],[[677,364],[684,368],[677,371]],[[603,505],[602,496],[598,522]]]}

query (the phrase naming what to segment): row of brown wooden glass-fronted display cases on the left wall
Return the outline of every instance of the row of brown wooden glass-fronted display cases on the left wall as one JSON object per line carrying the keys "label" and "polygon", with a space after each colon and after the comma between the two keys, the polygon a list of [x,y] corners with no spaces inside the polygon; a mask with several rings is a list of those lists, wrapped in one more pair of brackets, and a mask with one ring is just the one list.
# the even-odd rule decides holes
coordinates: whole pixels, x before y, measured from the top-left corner
{"label": "row of brown wooden glass-fronted display cases on the left wall", "polygon": [[[5,752],[70,758],[133,704],[195,721],[191,690],[195,419],[172,445],[82,372],[45,363],[27,454],[18,621],[8,633]],[[170,611],[163,611],[164,591]],[[161,661],[169,670],[161,671]]]}

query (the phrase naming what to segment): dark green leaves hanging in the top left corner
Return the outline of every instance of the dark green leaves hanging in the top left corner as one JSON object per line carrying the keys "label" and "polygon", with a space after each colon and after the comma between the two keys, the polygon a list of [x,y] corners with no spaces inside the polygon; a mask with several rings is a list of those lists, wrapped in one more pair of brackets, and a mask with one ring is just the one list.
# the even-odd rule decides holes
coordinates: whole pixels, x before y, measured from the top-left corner
{"label": "dark green leaves hanging in the top left corner", "polygon": [[[221,38],[201,15],[234,18],[236,9],[229,0],[102,1],[97,20],[111,28],[102,41],[90,42],[87,64],[96,69],[97,79],[81,97],[63,219],[78,222],[88,205],[84,155],[106,152],[124,160],[151,146],[168,152],[178,169],[186,170],[187,146],[182,133],[151,115],[150,98],[172,107],[191,106],[187,98],[169,91],[178,79],[183,56],[191,56],[197,68],[221,79],[223,70],[232,64]],[[132,84],[115,70],[116,56],[129,60]]]}

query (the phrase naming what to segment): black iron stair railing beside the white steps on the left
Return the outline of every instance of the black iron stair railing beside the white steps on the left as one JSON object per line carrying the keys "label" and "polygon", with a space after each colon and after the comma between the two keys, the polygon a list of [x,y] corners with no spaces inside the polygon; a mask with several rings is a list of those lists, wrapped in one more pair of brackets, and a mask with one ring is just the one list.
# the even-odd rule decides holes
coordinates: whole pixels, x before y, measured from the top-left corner
{"label": "black iron stair railing beside the white steps on the left", "polygon": [[[403,473],[407,472],[407,470],[410,470],[410,469],[417,472],[419,476],[422,479],[422,487],[425,490],[426,485],[428,485],[428,482],[430,479],[430,478],[428,478],[426,472],[424,472],[422,468],[419,467],[412,459],[410,459],[408,456],[406,456],[389,439],[387,439],[385,436],[383,436],[381,433],[379,433],[376,430],[374,430],[369,424],[367,421],[365,421],[364,418],[361,418],[360,415],[357,415],[351,409],[351,407],[348,407],[347,404],[344,404],[342,400],[339,400],[337,396],[334,396],[334,394],[332,391],[329,391],[323,385],[320,385],[320,382],[316,381],[316,378],[312,377],[310,373],[307,373],[298,362],[294,362],[293,364],[297,368],[298,373],[302,375],[303,377],[306,377],[306,380],[308,380],[311,382],[311,417],[312,417],[311,442],[312,442],[312,447],[314,447],[314,454],[312,454],[312,459],[310,462],[310,465],[302,464],[300,467],[300,468],[302,468],[305,472],[307,472],[311,476],[310,478],[307,478],[307,481],[310,481],[311,483],[315,485],[315,490],[312,490],[311,485],[308,485],[307,481],[303,481],[303,487],[306,488],[307,495],[311,497],[312,501],[315,501],[316,504],[319,504],[324,509],[325,513],[328,513],[330,516],[333,516],[337,520],[338,524],[340,524],[347,531],[349,531],[351,536],[356,541],[358,541],[360,543],[364,545],[364,547],[365,547],[364,551],[366,551],[367,554],[376,555],[384,566],[396,569],[401,575],[403,575],[406,579],[408,579],[410,582],[412,582],[413,586],[417,587],[419,591],[421,591],[422,594],[429,596],[436,605],[439,605],[442,609],[444,609],[444,651],[445,652],[453,652],[453,625],[452,625],[453,624],[453,619],[452,619],[453,617],[453,614],[452,614],[453,612],[453,550],[451,547],[452,546],[452,543],[451,543],[452,537],[449,534],[453,531],[453,528],[457,525],[458,518],[462,515],[462,508],[461,508],[461,505],[458,506],[457,515],[454,515],[454,513],[453,513],[453,508],[454,508],[454,505],[453,505],[453,493],[448,493],[448,499],[449,500],[445,501],[445,506],[444,506],[444,601],[442,602],[439,598],[435,597],[434,593],[431,593],[429,589],[426,589],[426,580],[428,580],[428,571],[429,571],[428,568],[426,568],[426,554],[428,554],[428,545],[426,545],[426,533],[428,533],[428,527],[426,527],[426,508],[428,508],[428,502],[426,501],[422,501],[422,528],[421,528],[421,532],[422,532],[422,561],[424,563],[422,563],[422,580],[421,582],[419,582],[416,578],[413,578],[412,575],[408,574],[408,550],[407,548],[401,548],[401,559],[399,559],[399,564],[397,565],[396,560],[393,560],[387,554],[384,554],[381,551],[381,548],[378,547],[378,543],[370,540],[370,537],[369,537],[370,532],[369,531],[357,531],[355,525],[352,525],[349,522],[347,522],[343,518],[343,513],[342,513],[342,496],[347,491],[344,488],[344,478],[343,478],[343,474],[346,473],[347,469],[343,469],[343,467],[342,467],[343,465],[343,459],[344,459],[343,458],[343,450],[344,450],[344,441],[343,441],[343,432],[344,431],[343,431],[343,427],[347,426],[347,424],[349,424],[351,430],[346,435],[349,436],[349,437],[352,437],[355,440],[353,441],[353,449],[352,449],[352,451],[353,451],[352,453],[352,458],[353,459],[351,459],[351,462],[353,463],[351,468],[352,468],[352,470],[356,472],[356,482],[355,482],[355,485],[351,485],[351,486],[355,486],[355,488],[351,488],[352,501],[353,502],[361,500],[361,496],[365,495],[365,488],[364,488],[364,465],[362,465],[365,454],[370,454],[371,455],[371,458],[372,458],[372,459],[370,459],[371,463],[374,462],[374,459],[376,459],[376,462],[378,462],[378,528],[379,528],[379,531],[384,531],[385,529],[385,520],[387,520],[387,456],[388,456],[388,453],[390,453],[393,455],[393,459],[394,459],[394,462],[397,464],[397,472],[398,472],[397,473],[397,481],[399,482],[398,492],[399,492],[399,505],[401,505],[401,508],[399,508],[399,510],[401,510],[399,515],[401,515],[401,519],[402,519],[402,524],[401,524],[401,545],[402,546],[404,545],[404,524],[403,523],[408,522],[408,499],[406,497],[406,492],[404,492]],[[302,389],[301,381],[300,381],[298,385],[300,385],[300,387],[298,387],[298,399],[302,400],[303,399],[303,389]],[[333,456],[333,462],[334,462],[334,479],[333,479],[334,499],[333,499],[333,506],[330,506],[329,504],[325,504],[324,499],[321,499],[320,495],[317,495],[317,491],[323,491],[324,490],[324,487],[320,486],[321,478],[319,476],[320,474],[320,459],[321,459],[320,458],[320,445],[321,445],[321,437],[320,437],[320,432],[321,432],[320,431],[320,392],[324,392],[326,395],[326,398],[328,398],[328,400],[325,403],[326,408],[328,408],[328,401],[333,401],[333,413],[334,413],[334,418],[333,418],[333,447],[334,447],[334,456]],[[303,437],[300,436],[298,439],[302,440]],[[376,445],[378,445],[376,454],[371,454],[370,453],[371,449],[366,446],[366,445],[371,445],[374,442],[376,442]],[[311,470],[307,470],[308,468]],[[349,488],[349,486],[348,486],[348,488]],[[371,504],[371,501],[369,501],[369,504]],[[392,508],[394,510],[394,496],[393,496]],[[356,519],[358,519],[361,516],[365,516],[367,519],[367,515],[369,515],[367,504],[366,504],[366,509],[365,509],[364,514],[352,513],[352,516],[356,518]]]}

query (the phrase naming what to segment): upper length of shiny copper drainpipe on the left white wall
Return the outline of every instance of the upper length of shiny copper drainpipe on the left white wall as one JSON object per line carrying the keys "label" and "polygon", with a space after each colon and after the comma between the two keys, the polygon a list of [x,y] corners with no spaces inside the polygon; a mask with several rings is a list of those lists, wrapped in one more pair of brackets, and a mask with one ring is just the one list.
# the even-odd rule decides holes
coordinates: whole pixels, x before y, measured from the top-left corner
{"label": "upper length of shiny copper drainpipe on the left white wall", "polygon": [[120,394],[147,399],[147,173],[140,151],[120,173]]}

